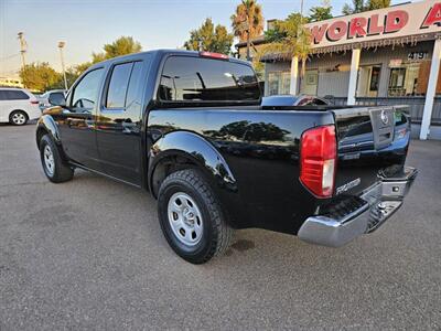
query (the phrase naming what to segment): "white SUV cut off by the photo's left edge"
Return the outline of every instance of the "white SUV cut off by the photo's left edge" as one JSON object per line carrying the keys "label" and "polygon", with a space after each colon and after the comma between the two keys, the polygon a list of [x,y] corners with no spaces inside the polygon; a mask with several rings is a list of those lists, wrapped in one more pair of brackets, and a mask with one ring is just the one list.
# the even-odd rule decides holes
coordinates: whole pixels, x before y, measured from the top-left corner
{"label": "white SUV cut off by the photo's left edge", "polygon": [[40,116],[39,100],[28,89],[0,87],[0,122],[24,126]]}

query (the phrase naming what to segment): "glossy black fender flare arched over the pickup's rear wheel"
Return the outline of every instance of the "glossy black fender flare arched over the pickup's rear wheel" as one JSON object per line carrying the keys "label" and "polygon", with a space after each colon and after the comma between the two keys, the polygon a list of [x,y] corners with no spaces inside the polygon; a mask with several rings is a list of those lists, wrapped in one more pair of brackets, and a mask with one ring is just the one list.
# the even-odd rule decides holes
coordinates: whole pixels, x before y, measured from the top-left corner
{"label": "glossy black fender flare arched over the pickup's rear wheel", "polygon": [[183,157],[196,164],[219,188],[237,191],[236,179],[223,156],[203,137],[189,131],[173,131],[160,138],[149,153],[149,188],[155,195],[154,171],[161,161]]}

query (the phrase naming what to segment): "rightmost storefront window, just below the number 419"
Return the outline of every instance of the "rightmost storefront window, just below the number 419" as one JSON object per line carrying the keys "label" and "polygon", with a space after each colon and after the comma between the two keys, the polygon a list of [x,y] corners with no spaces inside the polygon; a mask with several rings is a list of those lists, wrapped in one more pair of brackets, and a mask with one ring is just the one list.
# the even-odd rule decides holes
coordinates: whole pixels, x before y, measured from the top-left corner
{"label": "rightmost storefront window, just below the number 419", "polygon": [[420,63],[407,63],[390,68],[388,96],[418,94]]}

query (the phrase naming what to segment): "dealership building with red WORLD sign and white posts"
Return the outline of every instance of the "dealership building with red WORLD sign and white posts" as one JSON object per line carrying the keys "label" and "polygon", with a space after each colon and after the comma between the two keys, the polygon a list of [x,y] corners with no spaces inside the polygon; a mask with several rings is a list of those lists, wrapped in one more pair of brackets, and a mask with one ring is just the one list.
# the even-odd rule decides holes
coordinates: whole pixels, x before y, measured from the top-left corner
{"label": "dealership building with red WORLD sign and white posts", "polygon": [[421,125],[421,139],[441,134],[441,1],[406,3],[306,28],[312,54],[304,75],[297,57],[265,56],[266,95],[312,94],[342,105],[409,104],[413,121]]}

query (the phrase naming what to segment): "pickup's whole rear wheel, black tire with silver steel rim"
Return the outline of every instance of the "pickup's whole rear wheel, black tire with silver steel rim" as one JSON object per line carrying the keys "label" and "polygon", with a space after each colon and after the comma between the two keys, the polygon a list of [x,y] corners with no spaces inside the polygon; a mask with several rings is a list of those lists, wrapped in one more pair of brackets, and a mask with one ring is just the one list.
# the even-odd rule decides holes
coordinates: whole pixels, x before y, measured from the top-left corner
{"label": "pickup's whole rear wheel, black tire with silver steel rim", "polygon": [[197,170],[181,170],[161,184],[159,221],[173,250],[193,264],[223,254],[233,238],[217,199]]}

